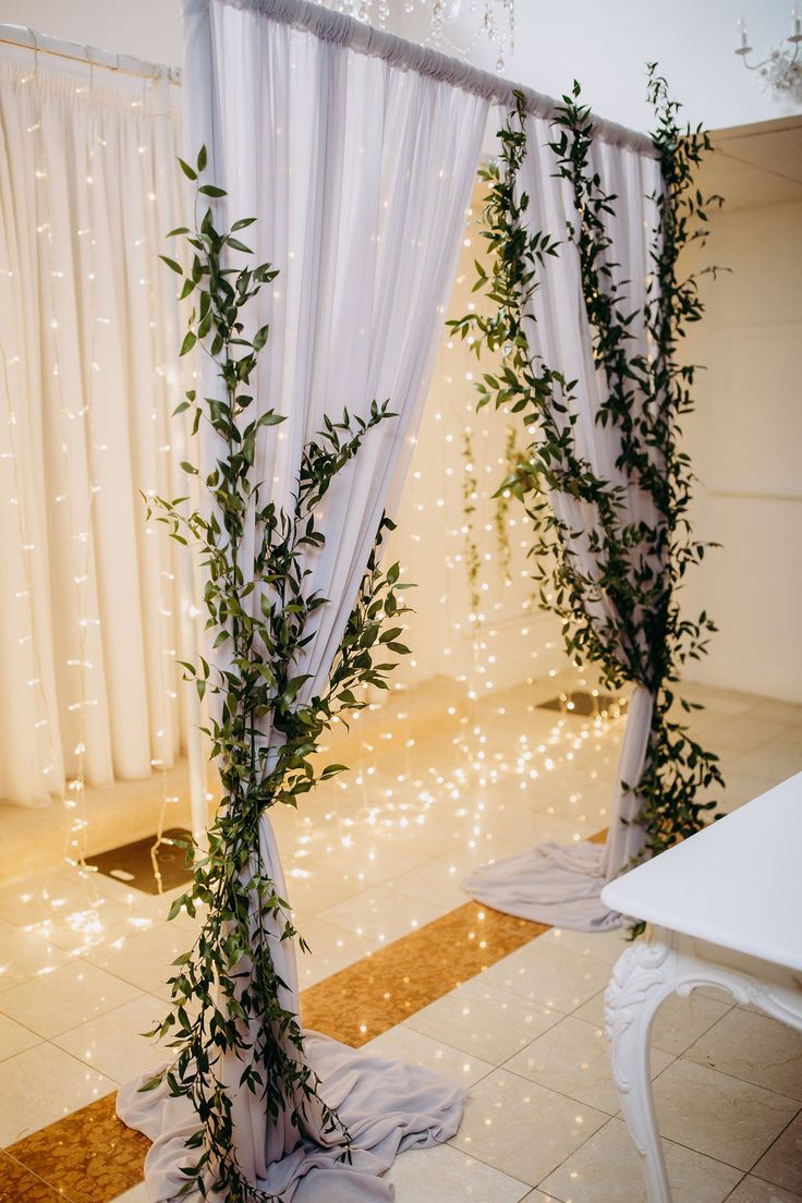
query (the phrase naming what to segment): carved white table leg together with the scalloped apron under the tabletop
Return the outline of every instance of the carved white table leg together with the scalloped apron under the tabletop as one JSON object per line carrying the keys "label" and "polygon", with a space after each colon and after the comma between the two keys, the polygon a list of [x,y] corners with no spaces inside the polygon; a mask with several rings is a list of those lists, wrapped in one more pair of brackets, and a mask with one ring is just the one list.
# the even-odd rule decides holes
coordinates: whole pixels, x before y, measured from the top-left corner
{"label": "carved white table leg together with the scalloped apron under the tabletop", "polygon": [[802,983],[790,970],[663,928],[625,949],[607,986],[605,1030],[622,1113],[643,1158],[648,1203],[671,1203],[652,1097],[652,1020],[670,994],[684,996],[700,985],[720,986],[736,1002],[802,1030]]}

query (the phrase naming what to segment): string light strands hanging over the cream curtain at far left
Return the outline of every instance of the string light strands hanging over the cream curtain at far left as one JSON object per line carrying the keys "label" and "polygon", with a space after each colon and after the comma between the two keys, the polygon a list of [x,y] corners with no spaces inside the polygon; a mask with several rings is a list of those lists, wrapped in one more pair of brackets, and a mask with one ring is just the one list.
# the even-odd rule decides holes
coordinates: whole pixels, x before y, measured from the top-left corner
{"label": "string light strands hanging over the cream curtain at far left", "polygon": [[[103,504],[102,498],[102,473],[97,470],[100,457],[107,451],[102,442],[103,435],[94,422],[95,398],[99,384],[103,383],[102,371],[112,363],[114,375],[107,381],[111,387],[115,386],[120,369],[119,358],[107,350],[106,340],[113,337],[113,321],[108,313],[99,313],[99,263],[97,242],[95,230],[100,220],[99,209],[95,203],[97,183],[107,179],[105,166],[100,156],[107,149],[107,130],[103,126],[107,99],[102,103],[99,101],[95,89],[95,66],[91,52],[87,49],[88,77],[81,79],[75,85],[77,105],[76,115],[76,144],[78,154],[85,154],[85,161],[79,171],[82,186],[77,189],[76,203],[67,209],[57,209],[57,224],[53,224],[53,179],[48,176],[48,148],[49,138],[55,134],[49,120],[49,108],[47,100],[49,96],[49,76],[41,70],[40,52],[34,38],[34,61],[31,69],[20,69],[17,75],[17,84],[20,89],[20,102],[30,107],[31,117],[26,125],[30,138],[31,154],[26,162],[32,171],[31,183],[35,185],[36,206],[36,231],[37,248],[36,259],[38,262],[40,278],[43,289],[40,294],[42,304],[42,332],[44,375],[42,380],[43,404],[52,413],[53,417],[46,423],[46,429],[53,432],[53,449],[55,452],[54,467],[49,468],[49,478],[46,478],[46,488],[54,488],[47,498],[48,508],[54,522],[52,546],[57,555],[64,555],[64,564],[59,565],[61,573],[66,573],[69,589],[60,593],[60,612],[65,624],[67,638],[61,638],[55,645],[55,672],[64,682],[64,711],[61,719],[57,716],[55,694],[49,695],[48,676],[42,671],[42,648],[47,640],[42,642],[41,633],[36,632],[36,602],[42,597],[42,582],[36,591],[37,565],[41,563],[42,551],[37,549],[31,523],[36,522],[35,505],[30,498],[23,496],[26,490],[20,486],[20,468],[17,448],[17,434],[19,429],[18,410],[14,402],[20,398],[28,386],[23,386],[14,379],[14,373],[20,368],[20,357],[14,354],[6,337],[0,338],[0,371],[2,372],[2,409],[0,421],[4,421],[2,429],[6,438],[0,446],[0,467],[5,468],[2,484],[8,485],[8,504],[14,505],[18,522],[18,543],[20,549],[20,573],[24,585],[17,589],[17,600],[28,606],[28,622],[19,623],[20,642],[26,645],[26,654],[31,663],[29,687],[36,691],[37,701],[34,705],[35,743],[38,751],[34,759],[36,765],[42,765],[41,772],[44,778],[49,778],[49,793],[54,796],[61,795],[63,810],[65,814],[65,864],[70,870],[69,877],[58,871],[48,875],[43,881],[41,890],[22,899],[25,908],[29,909],[35,920],[29,924],[29,930],[35,930],[48,936],[57,928],[64,932],[66,943],[71,952],[81,952],[83,947],[95,943],[102,938],[103,924],[101,921],[100,907],[103,905],[96,889],[96,875],[87,865],[85,855],[88,848],[88,819],[87,819],[87,774],[89,771],[88,757],[93,747],[93,709],[100,706],[97,682],[100,681],[99,660],[96,651],[100,646],[100,616],[96,608],[97,576],[94,561],[93,526],[94,515],[99,504]],[[72,87],[75,77],[57,77],[55,87],[64,90]],[[69,83],[67,83],[69,81]],[[148,290],[147,309],[149,316],[149,328],[152,336],[150,357],[153,365],[153,381],[149,396],[152,398],[154,421],[154,457],[168,461],[171,448],[159,437],[159,431],[166,427],[172,408],[171,390],[176,384],[166,381],[168,368],[164,363],[164,349],[158,346],[158,322],[155,320],[156,301],[153,289],[153,271],[149,261],[155,263],[156,249],[155,238],[161,237],[162,215],[154,212],[155,207],[155,183],[153,177],[154,117],[147,112],[143,101],[147,99],[145,84],[143,83],[143,100],[130,101],[133,109],[139,109],[139,120],[136,136],[139,142],[139,154],[144,156],[144,195],[143,195],[143,232],[147,237],[138,239],[142,248],[139,254],[141,285]],[[127,105],[126,99],[114,100],[113,106]],[[170,109],[167,103],[166,111]],[[114,126],[115,128],[115,126]],[[172,154],[172,152],[168,152]],[[172,159],[171,159],[172,161]],[[85,183],[85,188],[83,184]],[[100,200],[101,197],[97,197]],[[58,248],[64,245],[64,238],[59,229],[59,223],[64,223],[65,214],[70,214],[70,220],[75,221],[75,257],[70,261],[59,262],[55,259]],[[70,238],[67,236],[67,243]],[[2,284],[11,284],[12,265],[0,265]],[[82,296],[81,312],[87,315],[83,330],[83,343],[81,344],[75,330],[76,294]],[[10,310],[13,303],[10,301]],[[170,334],[166,336],[170,338]],[[173,349],[174,339],[170,342]],[[111,344],[113,348],[114,344]],[[69,357],[65,358],[65,356]],[[76,367],[76,363],[78,365]],[[158,444],[158,446],[155,445]],[[150,540],[148,540],[150,541]],[[156,539],[156,544],[162,540]],[[156,547],[158,563],[158,615],[155,624],[159,628],[156,642],[158,652],[153,656],[155,676],[158,677],[155,688],[155,706],[153,716],[152,737],[154,741],[152,753],[152,769],[159,774],[161,781],[161,816],[159,822],[159,834],[162,834],[166,807],[170,802],[177,801],[177,795],[167,792],[168,777],[167,768],[171,763],[173,749],[178,746],[176,734],[176,711],[178,706],[177,677],[173,662],[177,657],[174,612],[174,573],[168,557],[161,561],[161,547]],[[154,591],[147,589],[147,595],[153,597]],[[145,615],[147,618],[147,615]],[[61,652],[61,648],[65,648]],[[64,654],[61,664],[59,656]],[[61,736],[59,735],[61,731]],[[65,734],[66,733],[66,734]],[[64,757],[67,764],[63,763],[61,739],[65,740]],[[42,743],[44,741],[44,745]],[[96,841],[95,841],[96,843]],[[78,889],[70,889],[69,882],[73,881]],[[125,899],[129,905],[135,903],[133,896]],[[44,903],[44,908],[42,907]],[[51,906],[51,913],[47,906]],[[42,918],[42,915],[44,915]],[[136,917],[132,918],[133,921]],[[69,930],[67,930],[69,929]]]}

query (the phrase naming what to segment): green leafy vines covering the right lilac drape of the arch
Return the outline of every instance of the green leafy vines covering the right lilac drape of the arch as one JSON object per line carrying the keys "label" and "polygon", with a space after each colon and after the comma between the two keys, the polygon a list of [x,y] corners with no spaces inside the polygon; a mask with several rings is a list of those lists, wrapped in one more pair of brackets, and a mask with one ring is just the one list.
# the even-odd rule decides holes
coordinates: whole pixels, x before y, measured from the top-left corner
{"label": "green leafy vines covering the right lilac drape of the arch", "polygon": [[[670,99],[654,64],[648,81],[664,182],[652,198],[658,221],[648,300],[640,313],[649,334],[648,354],[630,334],[637,314],[625,284],[617,283],[612,271],[616,248],[604,217],[614,213],[617,197],[605,191],[589,165],[593,119],[580,103],[576,83],[553,119],[549,147],[556,174],[569,182],[574,198],[575,218],[568,223],[565,238],[578,251],[594,358],[605,375],[596,421],[617,427],[617,467],[631,487],[650,498],[657,521],[637,529],[628,525],[620,486],[601,479],[577,450],[571,416],[576,381],[566,380],[539,354],[531,300],[545,257],[559,255],[560,242],[527,226],[529,197],[518,180],[527,154],[521,94],[499,131],[498,160],[481,172],[488,185],[481,232],[488,239],[492,267],[488,272],[476,262],[474,291],[485,297],[485,312],[471,312],[450,325],[457,334],[471,338],[477,357],[485,349],[499,357],[495,374],[488,372],[476,385],[479,405],[493,403],[521,414],[528,432],[527,452],[500,491],[512,492],[534,525],[530,553],[541,582],[541,608],[562,620],[572,663],[593,665],[606,687],[619,689],[635,682],[655,697],[644,770],[640,781],[628,783],[638,795],[635,822],[644,832],[643,855],[654,855],[709,819],[715,802],[702,800],[700,792],[723,786],[718,758],[693,739],[685,722],[673,717],[682,668],[705,653],[715,630],[705,612],[695,621],[688,618],[679,600],[685,573],[701,562],[709,544],[696,539],[690,527],[694,474],[681,443],[681,420],[694,408],[697,368],[682,363],[677,355],[687,324],[699,321],[703,306],[696,278],[682,278],[678,261],[689,243],[705,242],[707,211],[721,198],[702,197],[695,184],[696,170],[711,149],[709,136],[701,128],[679,126],[679,106]],[[636,396],[638,404],[632,403]],[[601,532],[593,546],[593,575],[583,573],[571,555],[571,532],[549,503],[559,492],[593,508],[594,525]],[[604,597],[612,599],[605,614],[612,611],[614,618],[599,617],[598,603]],[[628,663],[622,647],[628,650]],[[685,712],[700,709],[678,700]]]}

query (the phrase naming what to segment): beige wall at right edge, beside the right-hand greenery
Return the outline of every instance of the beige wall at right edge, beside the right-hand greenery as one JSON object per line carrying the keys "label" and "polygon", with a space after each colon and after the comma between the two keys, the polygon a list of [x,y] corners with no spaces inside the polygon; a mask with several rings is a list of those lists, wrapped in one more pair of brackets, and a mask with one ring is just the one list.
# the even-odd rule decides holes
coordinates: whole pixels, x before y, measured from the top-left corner
{"label": "beige wall at right edge, beside the right-hand greenery", "polygon": [[687,446],[703,485],[699,534],[723,544],[693,573],[688,612],[720,632],[695,681],[802,701],[802,203],[721,213],[687,348],[699,378]]}

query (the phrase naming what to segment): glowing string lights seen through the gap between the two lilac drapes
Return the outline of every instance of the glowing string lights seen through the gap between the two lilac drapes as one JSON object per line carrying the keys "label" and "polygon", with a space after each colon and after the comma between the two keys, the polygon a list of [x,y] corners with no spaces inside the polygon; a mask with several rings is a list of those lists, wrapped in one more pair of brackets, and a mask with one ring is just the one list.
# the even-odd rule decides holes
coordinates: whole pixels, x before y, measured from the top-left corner
{"label": "glowing string lights seen through the gap between the two lilac drapes", "polygon": [[[473,278],[473,209],[465,217],[457,290]],[[512,822],[529,798],[537,806],[562,790],[543,810],[562,838],[578,841],[605,822],[606,806],[594,790],[612,771],[620,730],[598,707],[575,716],[569,687],[551,683],[569,665],[558,630],[541,634],[548,620],[541,624],[535,616],[529,520],[493,497],[523,432],[512,425],[515,415],[506,415],[504,431],[494,416],[476,413],[473,367],[465,346],[444,334],[388,550],[418,581],[417,614],[408,617],[403,636],[415,654],[390,699],[372,699],[351,736],[333,733],[326,754],[354,772],[322,787],[320,805],[304,816],[279,816],[290,836],[291,895],[293,883],[310,888],[321,853],[326,864],[354,864],[367,888],[387,840],[394,864],[406,836],[410,851],[430,854],[427,832],[444,820],[451,835],[442,872],[457,883],[471,864],[509,854],[505,845],[495,852],[499,814]],[[586,686],[584,677],[571,682]],[[562,712],[545,722],[537,701],[549,692],[562,697]],[[556,790],[556,781],[565,786]],[[563,835],[562,823],[571,824],[570,834]],[[303,909],[303,893],[301,899]]]}

